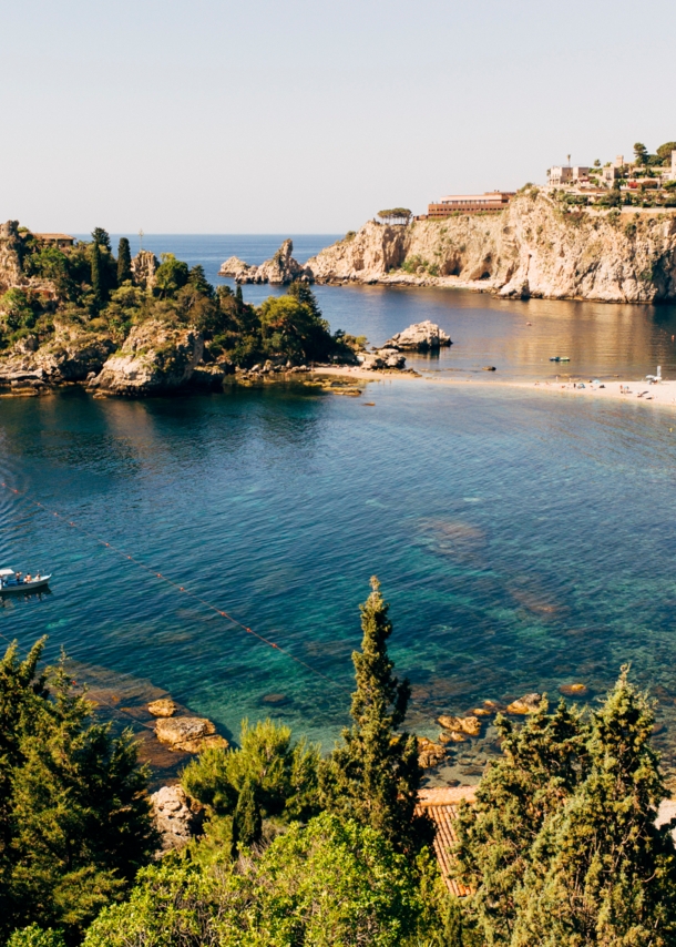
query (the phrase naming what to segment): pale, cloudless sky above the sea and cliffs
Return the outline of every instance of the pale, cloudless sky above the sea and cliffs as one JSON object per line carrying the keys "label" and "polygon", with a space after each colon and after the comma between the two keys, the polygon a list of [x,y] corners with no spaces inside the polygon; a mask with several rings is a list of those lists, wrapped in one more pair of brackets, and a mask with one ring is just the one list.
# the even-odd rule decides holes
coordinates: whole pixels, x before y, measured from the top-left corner
{"label": "pale, cloudless sky above the sea and cliffs", "polygon": [[676,140],[673,0],[0,0],[0,218],[344,233]]}

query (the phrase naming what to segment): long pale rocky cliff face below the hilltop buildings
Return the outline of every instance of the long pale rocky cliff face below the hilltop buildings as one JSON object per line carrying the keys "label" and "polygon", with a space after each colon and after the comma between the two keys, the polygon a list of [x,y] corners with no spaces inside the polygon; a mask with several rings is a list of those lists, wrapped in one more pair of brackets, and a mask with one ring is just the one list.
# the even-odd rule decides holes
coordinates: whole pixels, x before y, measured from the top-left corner
{"label": "long pale rocky cliff face below the hilltop buildings", "polygon": [[656,302],[676,298],[673,212],[566,212],[519,195],[500,214],[375,222],[306,264],[320,283],[468,285],[504,296]]}

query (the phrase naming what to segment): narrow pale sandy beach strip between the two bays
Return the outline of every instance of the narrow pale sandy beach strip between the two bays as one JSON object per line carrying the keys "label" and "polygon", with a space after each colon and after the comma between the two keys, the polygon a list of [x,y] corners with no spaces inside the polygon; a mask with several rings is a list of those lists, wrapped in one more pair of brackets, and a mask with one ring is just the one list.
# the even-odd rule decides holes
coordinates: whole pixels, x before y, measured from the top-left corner
{"label": "narrow pale sandy beach strip between the two bays", "polygon": [[[448,385],[461,388],[519,388],[533,394],[561,395],[569,398],[594,398],[596,400],[612,400],[624,403],[637,403],[644,405],[667,407],[676,409],[676,381],[658,381],[649,384],[645,379],[616,379],[613,381],[572,381],[572,380],[509,380],[501,381],[496,378],[484,380],[483,378],[471,378],[460,375],[454,378],[434,377],[432,375],[409,374],[406,371],[368,371],[358,367],[329,367],[317,368],[313,371],[317,378],[344,378],[355,381],[391,381],[392,379],[407,380],[411,384]],[[581,384],[584,387],[580,387]]]}

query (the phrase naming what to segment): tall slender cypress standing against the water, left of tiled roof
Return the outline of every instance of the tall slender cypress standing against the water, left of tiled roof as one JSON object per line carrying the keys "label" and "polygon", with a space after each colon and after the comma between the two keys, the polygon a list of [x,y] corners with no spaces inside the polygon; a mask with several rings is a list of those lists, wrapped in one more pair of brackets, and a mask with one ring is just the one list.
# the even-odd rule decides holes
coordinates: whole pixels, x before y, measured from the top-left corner
{"label": "tall slender cypress standing against the water, left of tiled roof", "polygon": [[372,826],[407,849],[414,844],[413,811],[422,771],[416,737],[400,730],[411,690],[408,680],[392,674],[388,609],[373,577],[371,593],[360,607],[361,651],[352,654],[357,680],[352,725],[344,730],[342,744],[322,773],[322,792],[332,812]]}

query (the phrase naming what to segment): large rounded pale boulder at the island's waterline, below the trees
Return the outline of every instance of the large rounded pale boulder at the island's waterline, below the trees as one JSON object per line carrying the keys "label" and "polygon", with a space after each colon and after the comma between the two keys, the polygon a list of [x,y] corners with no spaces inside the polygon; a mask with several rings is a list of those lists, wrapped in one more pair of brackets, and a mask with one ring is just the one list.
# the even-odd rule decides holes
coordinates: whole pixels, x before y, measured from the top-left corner
{"label": "large rounded pale boulder at the island's waterline, below the trees", "polygon": [[185,387],[204,354],[204,339],[193,328],[148,319],[130,332],[91,387],[114,395],[151,395]]}

